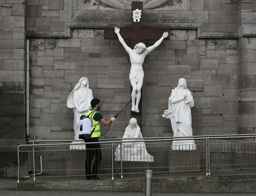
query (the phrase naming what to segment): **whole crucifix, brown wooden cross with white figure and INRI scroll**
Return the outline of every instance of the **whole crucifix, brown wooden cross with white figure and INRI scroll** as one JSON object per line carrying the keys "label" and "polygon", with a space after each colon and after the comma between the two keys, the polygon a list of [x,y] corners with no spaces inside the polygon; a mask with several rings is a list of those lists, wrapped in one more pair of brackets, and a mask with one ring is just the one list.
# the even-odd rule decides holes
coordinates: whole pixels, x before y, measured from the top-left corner
{"label": "whole crucifix, brown wooden cross with white figure and INRI scroll", "polygon": [[[137,119],[140,129],[142,128],[142,101],[140,99],[144,77],[142,69],[144,58],[149,52],[160,45],[164,39],[170,40],[170,35],[168,34],[170,29],[143,28],[142,12],[143,2],[132,2],[132,28],[104,28],[104,39],[119,39],[120,43],[129,54],[131,60],[131,70],[129,75],[132,93],[131,118],[133,117]],[[131,39],[131,45],[132,48],[134,48],[133,50],[126,45],[124,39]],[[142,43],[143,39],[158,41],[154,45],[146,48],[145,44]]]}

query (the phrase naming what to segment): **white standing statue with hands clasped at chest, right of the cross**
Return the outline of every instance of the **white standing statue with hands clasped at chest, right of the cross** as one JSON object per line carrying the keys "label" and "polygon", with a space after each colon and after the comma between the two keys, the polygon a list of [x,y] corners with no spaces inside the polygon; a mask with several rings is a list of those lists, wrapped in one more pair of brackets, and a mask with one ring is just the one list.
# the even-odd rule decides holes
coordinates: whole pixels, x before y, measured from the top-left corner
{"label": "white standing statue with hands clasped at chest, right of the cross", "polygon": [[[172,90],[169,97],[168,110],[163,117],[170,118],[173,137],[192,136],[192,117],[190,108],[194,99],[187,88],[184,78],[179,79],[178,87]],[[195,140],[177,140],[172,142],[172,150],[196,150]]]}

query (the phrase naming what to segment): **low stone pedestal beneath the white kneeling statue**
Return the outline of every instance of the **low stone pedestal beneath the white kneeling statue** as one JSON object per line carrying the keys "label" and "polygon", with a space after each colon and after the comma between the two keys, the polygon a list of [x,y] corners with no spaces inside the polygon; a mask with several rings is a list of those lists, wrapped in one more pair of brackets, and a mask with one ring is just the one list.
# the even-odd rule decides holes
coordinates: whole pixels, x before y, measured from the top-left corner
{"label": "low stone pedestal beneath the white kneeling statue", "polygon": [[[117,162],[118,168],[121,168],[121,162]],[[123,161],[122,162],[123,173],[140,173],[150,169],[149,162],[141,161]],[[120,169],[119,169],[120,170]]]}

